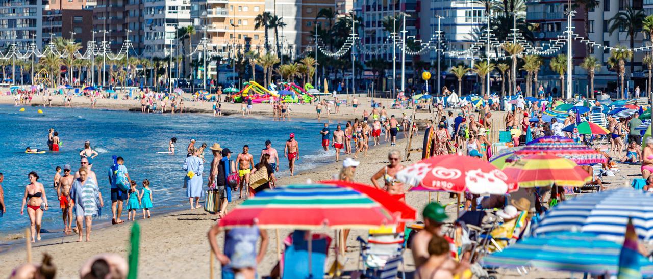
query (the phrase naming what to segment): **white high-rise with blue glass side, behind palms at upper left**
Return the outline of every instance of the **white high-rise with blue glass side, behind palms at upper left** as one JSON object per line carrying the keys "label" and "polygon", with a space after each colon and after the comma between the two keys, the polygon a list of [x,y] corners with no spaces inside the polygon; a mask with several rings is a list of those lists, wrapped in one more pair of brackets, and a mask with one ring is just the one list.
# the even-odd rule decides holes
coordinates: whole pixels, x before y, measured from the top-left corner
{"label": "white high-rise with blue glass side, behind palms at upper left", "polygon": [[[179,48],[177,29],[191,25],[191,2],[189,0],[155,0],[145,3],[145,57],[185,55]],[[187,46],[186,50],[190,46]]]}

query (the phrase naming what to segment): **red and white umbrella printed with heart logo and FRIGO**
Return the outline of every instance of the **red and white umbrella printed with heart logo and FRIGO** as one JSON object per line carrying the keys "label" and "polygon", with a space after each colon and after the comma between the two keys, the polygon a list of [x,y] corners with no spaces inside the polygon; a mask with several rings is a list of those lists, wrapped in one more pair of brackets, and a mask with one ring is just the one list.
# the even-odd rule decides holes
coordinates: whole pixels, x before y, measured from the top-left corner
{"label": "red and white umbrella printed with heart logo and FRIGO", "polygon": [[400,170],[396,179],[411,190],[503,195],[517,191],[517,182],[503,171],[471,156],[440,155]]}

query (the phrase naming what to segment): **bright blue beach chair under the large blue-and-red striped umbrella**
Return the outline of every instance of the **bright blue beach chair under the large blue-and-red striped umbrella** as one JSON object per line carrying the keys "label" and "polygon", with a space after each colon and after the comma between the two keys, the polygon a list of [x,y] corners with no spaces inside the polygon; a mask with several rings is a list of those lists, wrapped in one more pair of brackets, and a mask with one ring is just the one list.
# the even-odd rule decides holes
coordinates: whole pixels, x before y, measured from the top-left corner
{"label": "bright blue beach chair under the large blue-and-red striped umbrella", "polygon": [[[327,261],[331,238],[328,235],[313,234],[310,243],[311,253],[309,254],[309,243],[304,240],[304,233],[304,231],[297,230],[293,231],[290,236],[292,243],[286,246],[282,258],[281,278],[283,279],[324,277],[325,262]],[[311,268],[307,269],[309,263]]]}

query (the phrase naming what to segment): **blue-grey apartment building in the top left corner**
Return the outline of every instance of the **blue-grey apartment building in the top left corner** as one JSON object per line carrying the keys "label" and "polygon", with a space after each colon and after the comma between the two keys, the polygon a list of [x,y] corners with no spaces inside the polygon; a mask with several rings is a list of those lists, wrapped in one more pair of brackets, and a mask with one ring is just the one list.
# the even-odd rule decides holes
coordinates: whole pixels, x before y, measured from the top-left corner
{"label": "blue-grey apartment building in the top left corner", "polygon": [[[2,0],[0,1],[0,49],[16,42],[25,50],[32,40],[42,41],[44,0]],[[39,44],[37,44],[39,45]]]}

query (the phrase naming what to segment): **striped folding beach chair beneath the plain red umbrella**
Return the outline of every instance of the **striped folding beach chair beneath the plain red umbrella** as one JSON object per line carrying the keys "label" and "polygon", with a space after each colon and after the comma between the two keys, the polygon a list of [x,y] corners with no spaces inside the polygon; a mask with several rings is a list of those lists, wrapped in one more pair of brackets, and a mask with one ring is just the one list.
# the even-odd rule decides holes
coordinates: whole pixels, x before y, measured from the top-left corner
{"label": "striped folding beach chair beneath the plain red umbrella", "polygon": [[[361,237],[357,241],[366,278],[397,277],[399,264],[404,265],[404,233],[370,234],[367,241]],[[405,272],[402,272],[402,278],[406,278]]]}

